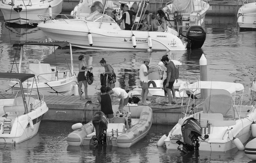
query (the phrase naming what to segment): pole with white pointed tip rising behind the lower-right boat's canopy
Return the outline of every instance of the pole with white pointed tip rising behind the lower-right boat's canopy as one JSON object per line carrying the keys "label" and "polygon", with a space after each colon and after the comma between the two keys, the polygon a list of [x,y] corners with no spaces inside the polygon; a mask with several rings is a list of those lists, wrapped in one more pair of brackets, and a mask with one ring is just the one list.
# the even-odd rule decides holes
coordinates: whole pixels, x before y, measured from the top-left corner
{"label": "pole with white pointed tip rising behind the lower-right boat's canopy", "polygon": [[[207,81],[207,59],[204,56],[204,53],[202,54],[200,60],[200,81]],[[207,89],[201,89],[201,98],[205,99],[208,96],[208,90]]]}

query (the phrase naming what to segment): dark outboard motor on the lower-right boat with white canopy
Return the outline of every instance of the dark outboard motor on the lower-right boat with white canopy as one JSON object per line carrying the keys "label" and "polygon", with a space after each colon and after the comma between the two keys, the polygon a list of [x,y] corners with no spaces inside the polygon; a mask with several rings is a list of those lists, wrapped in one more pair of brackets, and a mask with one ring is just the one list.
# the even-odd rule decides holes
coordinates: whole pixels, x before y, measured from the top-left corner
{"label": "dark outboard motor on the lower-right boat with white canopy", "polygon": [[177,147],[181,152],[187,154],[191,151],[199,150],[199,139],[202,134],[202,127],[195,118],[188,118],[181,126],[183,141],[176,141],[180,146]]}

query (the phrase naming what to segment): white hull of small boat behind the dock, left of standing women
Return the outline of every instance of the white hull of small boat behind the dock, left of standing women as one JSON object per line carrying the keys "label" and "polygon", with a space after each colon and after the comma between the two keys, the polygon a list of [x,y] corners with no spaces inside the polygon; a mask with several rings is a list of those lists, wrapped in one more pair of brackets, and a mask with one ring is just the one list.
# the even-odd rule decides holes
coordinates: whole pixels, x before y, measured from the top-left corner
{"label": "white hull of small boat behind the dock, left of standing women", "polygon": [[[76,83],[76,76],[71,76],[69,78],[59,79],[58,81],[38,82],[37,85],[38,91],[44,95],[71,96],[74,94],[74,86],[76,85]],[[27,88],[31,90],[32,85],[33,89],[36,89],[36,83],[33,84],[33,82],[23,82],[22,84],[24,90],[26,90]],[[14,86],[12,87],[12,90],[20,90],[19,85],[17,85],[15,81],[10,81],[9,86]],[[36,94],[36,90],[32,90],[32,94]]]}

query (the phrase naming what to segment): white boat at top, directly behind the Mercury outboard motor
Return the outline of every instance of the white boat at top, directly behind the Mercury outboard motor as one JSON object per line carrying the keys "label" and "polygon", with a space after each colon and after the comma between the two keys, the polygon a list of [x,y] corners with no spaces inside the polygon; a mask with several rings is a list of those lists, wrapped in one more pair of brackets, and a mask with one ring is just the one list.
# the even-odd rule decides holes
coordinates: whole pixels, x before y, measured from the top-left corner
{"label": "white boat at top, directly behind the Mercury outboard motor", "polygon": [[171,0],[158,12],[163,12],[173,27],[189,27],[203,25],[209,7],[209,3],[204,0]]}

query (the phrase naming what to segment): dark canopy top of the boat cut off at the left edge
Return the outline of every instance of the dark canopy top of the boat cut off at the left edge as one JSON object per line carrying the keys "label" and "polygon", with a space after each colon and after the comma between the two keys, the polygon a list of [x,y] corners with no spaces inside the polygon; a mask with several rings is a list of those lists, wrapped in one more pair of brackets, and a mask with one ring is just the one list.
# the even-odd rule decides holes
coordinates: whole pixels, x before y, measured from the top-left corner
{"label": "dark canopy top of the boat cut off at the left edge", "polygon": [[35,77],[35,74],[31,73],[0,73],[0,79],[6,79],[6,80],[20,80],[21,82],[24,82],[26,79]]}

